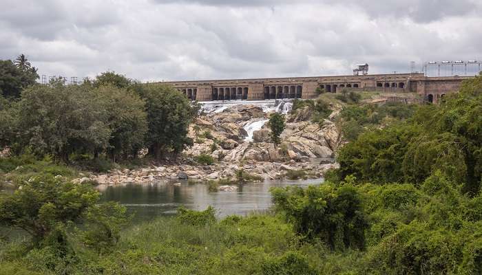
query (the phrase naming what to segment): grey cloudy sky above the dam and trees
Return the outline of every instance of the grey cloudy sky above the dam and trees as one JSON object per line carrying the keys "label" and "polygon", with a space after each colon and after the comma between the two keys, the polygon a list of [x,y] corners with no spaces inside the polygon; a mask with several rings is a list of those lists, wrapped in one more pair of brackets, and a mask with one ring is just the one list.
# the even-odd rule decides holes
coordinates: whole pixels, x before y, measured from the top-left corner
{"label": "grey cloudy sky above the dam and trees", "polygon": [[409,72],[482,58],[481,0],[0,0],[0,59],[138,80]]}

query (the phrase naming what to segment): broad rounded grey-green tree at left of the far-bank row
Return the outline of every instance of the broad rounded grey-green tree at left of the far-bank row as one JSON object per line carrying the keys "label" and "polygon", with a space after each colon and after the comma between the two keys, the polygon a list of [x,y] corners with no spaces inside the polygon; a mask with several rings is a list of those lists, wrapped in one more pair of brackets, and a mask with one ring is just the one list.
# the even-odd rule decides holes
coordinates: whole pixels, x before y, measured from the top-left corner
{"label": "broad rounded grey-green tree at left of the far-bank row", "polygon": [[26,89],[13,105],[19,148],[69,161],[70,153],[99,153],[109,145],[107,111],[82,86],[39,85]]}

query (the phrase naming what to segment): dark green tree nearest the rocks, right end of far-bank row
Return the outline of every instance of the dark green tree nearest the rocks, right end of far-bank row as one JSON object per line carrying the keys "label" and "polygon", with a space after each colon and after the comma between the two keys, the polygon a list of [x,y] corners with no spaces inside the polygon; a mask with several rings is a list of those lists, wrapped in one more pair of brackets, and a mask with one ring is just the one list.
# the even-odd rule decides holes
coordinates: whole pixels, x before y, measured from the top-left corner
{"label": "dark green tree nearest the rocks, right end of far-bank row", "polygon": [[137,85],[136,91],[146,102],[149,155],[160,159],[167,154],[180,153],[193,143],[187,133],[198,108],[183,94],[174,87],[158,84]]}

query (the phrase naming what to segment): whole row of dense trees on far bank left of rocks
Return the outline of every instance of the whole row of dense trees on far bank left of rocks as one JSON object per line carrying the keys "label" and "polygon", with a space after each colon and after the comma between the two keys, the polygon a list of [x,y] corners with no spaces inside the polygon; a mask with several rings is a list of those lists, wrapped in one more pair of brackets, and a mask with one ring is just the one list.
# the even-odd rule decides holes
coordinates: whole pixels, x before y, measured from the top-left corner
{"label": "whole row of dense trees on far bank left of rocks", "polygon": [[134,159],[145,147],[162,157],[192,143],[187,126],[197,109],[173,87],[143,85],[114,72],[82,85],[65,85],[59,77],[23,89],[17,102],[1,98],[0,148],[15,154],[32,148],[36,157],[52,155],[67,164],[70,156],[85,155],[81,166],[98,157]]}

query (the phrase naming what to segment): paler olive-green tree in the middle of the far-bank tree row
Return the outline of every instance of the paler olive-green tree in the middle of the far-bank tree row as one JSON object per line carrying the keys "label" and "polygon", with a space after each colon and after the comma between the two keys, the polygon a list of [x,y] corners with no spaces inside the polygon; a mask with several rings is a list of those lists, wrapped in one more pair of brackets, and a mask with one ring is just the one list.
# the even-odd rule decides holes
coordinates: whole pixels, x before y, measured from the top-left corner
{"label": "paler olive-green tree in the middle of the far-bank tree row", "polygon": [[94,94],[107,111],[106,123],[110,129],[107,155],[114,161],[136,157],[147,133],[145,102],[134,92],[114,85],[98,87]]}

